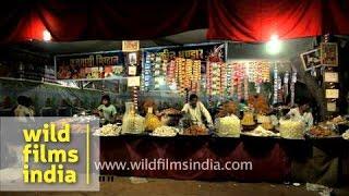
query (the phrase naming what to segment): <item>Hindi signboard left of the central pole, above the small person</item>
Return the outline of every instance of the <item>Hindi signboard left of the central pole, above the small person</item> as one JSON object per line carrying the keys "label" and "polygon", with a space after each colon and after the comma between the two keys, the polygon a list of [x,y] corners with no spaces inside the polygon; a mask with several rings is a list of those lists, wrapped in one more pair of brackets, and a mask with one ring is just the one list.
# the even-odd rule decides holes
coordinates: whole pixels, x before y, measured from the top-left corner
{"label": "Hindi signboard left of the central pole, above the small person", "polygon": [[125,73],[121,51],[61,54],[55,63],[57,79],[112,79]]}

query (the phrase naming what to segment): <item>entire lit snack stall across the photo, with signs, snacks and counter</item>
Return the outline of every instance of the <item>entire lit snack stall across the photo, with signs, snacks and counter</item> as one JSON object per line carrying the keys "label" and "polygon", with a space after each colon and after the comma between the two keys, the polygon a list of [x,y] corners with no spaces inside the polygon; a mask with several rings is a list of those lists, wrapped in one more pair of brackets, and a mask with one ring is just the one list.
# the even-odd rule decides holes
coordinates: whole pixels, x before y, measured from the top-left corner
{"label": "entire lit snack stall across the photo, with signs, snacks and counter", "polygon": [[[21,51],[26,60],[2,61],[16,65],[2,72],[0,111],[11,115],[7,102],[23,95],[32,99],[32,115],[77,124],[97,119],[93,136],[100,138],[95,149],[101,161],[164,158],[253,167],[100,171],[105,175],[340,185],[349,173],[349,122],[338,40],[287,40],[278,54],[276,40],[160,47],[134,40],[120,50]],[[34,78],[36,71],[24,70],[37,62],[43,75]]]}

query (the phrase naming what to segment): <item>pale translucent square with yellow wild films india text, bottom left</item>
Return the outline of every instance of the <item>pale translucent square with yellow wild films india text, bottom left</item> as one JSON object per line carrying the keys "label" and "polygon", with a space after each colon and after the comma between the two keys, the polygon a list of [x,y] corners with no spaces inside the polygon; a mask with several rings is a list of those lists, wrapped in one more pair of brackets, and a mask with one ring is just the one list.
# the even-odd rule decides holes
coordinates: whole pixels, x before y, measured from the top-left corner
{"label": "pale translucent square with yellow wild films india text, bottom left", "polygon": [[0,118],[0,191],[99,191],[99,120]]}

